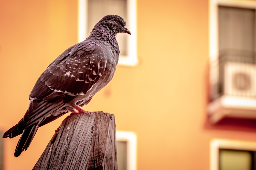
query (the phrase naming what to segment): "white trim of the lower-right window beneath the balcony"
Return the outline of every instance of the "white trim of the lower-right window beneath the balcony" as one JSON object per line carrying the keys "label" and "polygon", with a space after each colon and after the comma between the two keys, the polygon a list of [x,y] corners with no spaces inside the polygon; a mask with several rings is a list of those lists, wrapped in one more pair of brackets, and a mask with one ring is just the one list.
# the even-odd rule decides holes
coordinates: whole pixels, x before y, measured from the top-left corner
{"label": "white trim of the lower-right window beneath the balcony", "polygon": [[256,142],[214,139],[210,143],[210,170],[219,169],[219,150],[220,149],[234,149],[256,151]]}

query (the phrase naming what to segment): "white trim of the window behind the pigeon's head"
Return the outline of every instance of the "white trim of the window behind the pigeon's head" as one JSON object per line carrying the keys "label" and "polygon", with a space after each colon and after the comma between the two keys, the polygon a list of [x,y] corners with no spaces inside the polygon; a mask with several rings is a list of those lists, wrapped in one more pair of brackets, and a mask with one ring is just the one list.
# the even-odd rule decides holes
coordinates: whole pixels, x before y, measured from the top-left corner
{"label": "white trim of the window behind the pigeon's head", "polygon": [[[87,23],[87,0],[78,0],[78,42],[84,41],[88,35],[86,23]],[[137,30],[136,30],[136,0],[127,0],[127,22],[129,22],[129,30],[131,31],[131,36],[128,36],[128,55],[119,56],[118,65],[125,66],[135,66],[138,63],[137,59]]]}

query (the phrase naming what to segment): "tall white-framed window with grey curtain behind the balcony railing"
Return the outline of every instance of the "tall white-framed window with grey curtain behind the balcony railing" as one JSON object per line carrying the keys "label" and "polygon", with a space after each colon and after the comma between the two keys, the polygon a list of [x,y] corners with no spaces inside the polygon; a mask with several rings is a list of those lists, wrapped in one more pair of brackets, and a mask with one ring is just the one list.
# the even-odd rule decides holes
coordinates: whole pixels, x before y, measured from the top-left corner
{"label": "tall white-framed window with grey curtain behind the balcony railing", "polygon": [[224,72],[227,62],[255,65],[256,2],[210,0],[209,4],[210,82],[211,99],[214,100],[225,94]]}

